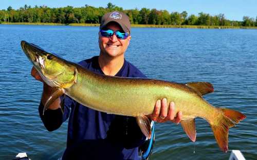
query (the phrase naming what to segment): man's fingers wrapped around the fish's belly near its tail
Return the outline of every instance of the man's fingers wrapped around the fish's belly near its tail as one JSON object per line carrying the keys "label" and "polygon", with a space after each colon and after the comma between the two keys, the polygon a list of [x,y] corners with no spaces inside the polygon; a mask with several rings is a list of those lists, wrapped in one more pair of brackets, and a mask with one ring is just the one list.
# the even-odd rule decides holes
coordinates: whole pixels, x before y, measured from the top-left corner
{"label": "man's fingers wrapped around the fish's belly near its tail", "polygon": [[[172,121],[174,123],[179,123],[182,119],[182,112],[179,111],[177,116],[174,115],[174,102],[171,102],[168,109],[167,99],[157,100],[154,107],[154,112],[152,115],[148,115],[152,121],[157,121],[159,123]],[[175,117],[175,118],[174,118]]]}

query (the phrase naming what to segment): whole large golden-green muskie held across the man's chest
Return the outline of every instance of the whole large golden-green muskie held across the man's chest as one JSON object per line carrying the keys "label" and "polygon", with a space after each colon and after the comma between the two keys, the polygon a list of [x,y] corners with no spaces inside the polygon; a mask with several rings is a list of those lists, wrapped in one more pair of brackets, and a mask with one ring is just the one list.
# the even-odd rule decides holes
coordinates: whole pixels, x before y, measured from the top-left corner
{"label": "whole large golden-green muskie held across the man's chest", "polygon": [[186,84],[155,79],[121,78],[95,74],[79,64],[69,62],[48,53],[40,47],[21,42],[22,49],[40,73],[43,80],[57,90],[47,100],[44,111],[63,94],[77,102],[107,113],[136,117],[143,134],[151,138],[149,119],[157,100],[166,98],[175,102],[175,114],[182,111],[181,125],[189,138],[195,142],[195,118],[206,119],[213,130],[218,146],[228,151],[228,130],[245,119],[241,112],[215,108],[203,99],[212,93],[208,82]]}

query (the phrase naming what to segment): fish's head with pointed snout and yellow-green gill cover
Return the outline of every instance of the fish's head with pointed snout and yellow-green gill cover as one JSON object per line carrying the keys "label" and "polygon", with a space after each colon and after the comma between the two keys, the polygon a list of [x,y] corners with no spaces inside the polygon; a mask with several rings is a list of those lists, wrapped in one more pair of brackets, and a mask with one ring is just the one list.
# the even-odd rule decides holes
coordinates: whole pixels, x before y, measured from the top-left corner
{"label": "fish's head with pointed snout and yellow-green gill cover", "polygon": [[65,88],[76,82],[77,68],[73,63],[26,41],[21,41],[21,46],[28,59],[49,86]]}

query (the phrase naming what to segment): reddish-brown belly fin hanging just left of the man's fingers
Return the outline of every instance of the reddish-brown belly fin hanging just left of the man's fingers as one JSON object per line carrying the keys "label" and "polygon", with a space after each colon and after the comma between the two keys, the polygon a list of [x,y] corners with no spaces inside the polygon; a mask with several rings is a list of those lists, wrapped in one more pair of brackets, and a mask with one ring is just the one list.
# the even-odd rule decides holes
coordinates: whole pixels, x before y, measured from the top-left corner
{"label": "reddish-brown belly fin hanging just left of the man's fingers", "polygon": [[146,138],[151,139],[152,131],[151,131],[151,123],[145,115],[139,115],[136,117],[137,124],[140,127],[142,133],[146,136]]}

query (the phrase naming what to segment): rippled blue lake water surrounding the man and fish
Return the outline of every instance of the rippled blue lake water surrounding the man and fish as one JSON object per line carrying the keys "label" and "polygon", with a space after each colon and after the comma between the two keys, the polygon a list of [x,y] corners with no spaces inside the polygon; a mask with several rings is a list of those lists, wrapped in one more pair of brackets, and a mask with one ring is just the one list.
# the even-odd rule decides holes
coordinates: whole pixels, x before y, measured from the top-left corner
{"label": "rippled blue lake water surrounding the man and fish", "polygon": [[[27,152],[33,159],[57,159],[66,146],[67,123],[48,132],[38,113],[42,83],[20,42],[78,62],[99,54],[97,27],[0,25],[0,159]],[[207,121],[197,118],[196,142],[180,125],[156,125],[151,159],[228,159],[232,149],[257,157],[257,30],[133,28],[126,59],[149,78],[186,83],[207,81],[216,107],[247,118],[229,132],[229,152],[219,150]]]}

